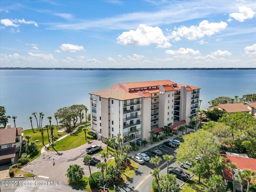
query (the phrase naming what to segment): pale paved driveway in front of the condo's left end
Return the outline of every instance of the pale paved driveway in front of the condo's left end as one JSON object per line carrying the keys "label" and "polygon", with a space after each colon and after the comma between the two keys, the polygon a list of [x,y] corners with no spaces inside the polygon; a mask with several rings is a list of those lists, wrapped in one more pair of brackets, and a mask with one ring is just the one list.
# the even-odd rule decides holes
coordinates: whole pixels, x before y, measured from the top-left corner
{"label": "pale paved driveway in front of the condo's left end", "polygon": [[[78,164],[84,168],[85,176],[90,176],[89,168],[84,165],[84,156],[88,155],[86,153],[86,148],[93,144],[100,144],[102,148],[106,148],[106,144],[102,141],[92,140],[90,143],[86,143],[78,148],[61,151],[60,155],[56,152],[45,152],[30,164],[22,168],[24,172],[31,172],[36,175],[37,179],[46,181],[60,181],[62,184],[68,184],[68,178],[65,176],[68,167],[72,164]],[[93,154],[93,157],[100,158],[100,154]],[[55,163],[53,165],[53,162]],[[97,172],[98,168],[91,166],[91,172]]]}

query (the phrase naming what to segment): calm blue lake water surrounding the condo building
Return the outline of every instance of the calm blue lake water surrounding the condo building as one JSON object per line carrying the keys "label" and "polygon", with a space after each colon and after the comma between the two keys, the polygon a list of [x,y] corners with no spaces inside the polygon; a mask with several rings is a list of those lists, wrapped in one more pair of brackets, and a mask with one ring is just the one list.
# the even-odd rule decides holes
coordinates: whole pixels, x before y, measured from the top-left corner
{"label": "calm blue lake water surrounding the condo building", "polygon": [[[219,96],[242,97],[256,93],[256,70],[0,70],[0,105],[6,115],[17,116],[16,126],[31,128],[33,112],[47,117],[62,107],[84,104],[90,92],[122,82],[169,79],[178,84],[200,87],[201,109]],[[9,123],[14,126],[12,118]],[[33,117],[33,126],[36,120]]]}

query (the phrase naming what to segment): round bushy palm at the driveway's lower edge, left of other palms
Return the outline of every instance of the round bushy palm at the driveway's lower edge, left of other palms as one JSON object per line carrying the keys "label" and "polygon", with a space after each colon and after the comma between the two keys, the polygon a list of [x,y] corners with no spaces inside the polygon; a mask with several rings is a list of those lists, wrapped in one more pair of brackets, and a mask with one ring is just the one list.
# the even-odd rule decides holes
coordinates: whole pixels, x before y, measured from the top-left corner
{"label": "round bushy palm at the driveway's lower edge, left of other palms", "polygon": [[77,164],[70,165],[65,175],[70,182],[78,183],[84,176],[84,168]]}

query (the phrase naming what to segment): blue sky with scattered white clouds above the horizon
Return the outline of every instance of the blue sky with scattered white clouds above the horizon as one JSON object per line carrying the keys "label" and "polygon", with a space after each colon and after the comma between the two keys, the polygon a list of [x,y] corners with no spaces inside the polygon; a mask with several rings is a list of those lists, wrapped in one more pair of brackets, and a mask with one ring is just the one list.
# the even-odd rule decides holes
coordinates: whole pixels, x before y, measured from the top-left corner
{"label": "blue sky with scattered white clouds above the horizon", "polygon": [[256,67],[255,1],[0,1],[0,66]]}

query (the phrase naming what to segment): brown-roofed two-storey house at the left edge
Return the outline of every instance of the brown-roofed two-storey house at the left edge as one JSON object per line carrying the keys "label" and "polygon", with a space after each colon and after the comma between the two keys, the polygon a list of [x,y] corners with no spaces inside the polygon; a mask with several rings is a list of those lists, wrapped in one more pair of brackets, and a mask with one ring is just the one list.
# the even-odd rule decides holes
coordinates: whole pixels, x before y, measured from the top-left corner
{"label": "brown-roofed two-storey house at the left edge", "polygon": [[0,129],[0,165],[13,164],[20,155],[22,128]]}

